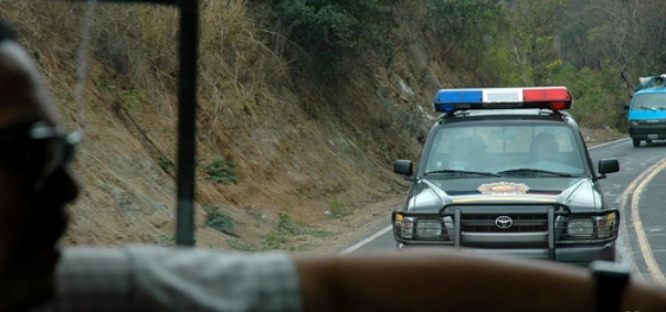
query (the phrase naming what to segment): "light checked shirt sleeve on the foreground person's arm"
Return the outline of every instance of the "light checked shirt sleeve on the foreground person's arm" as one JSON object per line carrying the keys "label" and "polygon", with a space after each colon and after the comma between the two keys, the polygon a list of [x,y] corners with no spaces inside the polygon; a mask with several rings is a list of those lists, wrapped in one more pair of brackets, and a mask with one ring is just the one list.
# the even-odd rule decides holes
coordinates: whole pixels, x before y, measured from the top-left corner
{"label": "light checked shirt sleeve on the foreground person's arm", "polygon": [[36,311],[300,311],[283,254],[187,247],[68,247],[52,302]]}

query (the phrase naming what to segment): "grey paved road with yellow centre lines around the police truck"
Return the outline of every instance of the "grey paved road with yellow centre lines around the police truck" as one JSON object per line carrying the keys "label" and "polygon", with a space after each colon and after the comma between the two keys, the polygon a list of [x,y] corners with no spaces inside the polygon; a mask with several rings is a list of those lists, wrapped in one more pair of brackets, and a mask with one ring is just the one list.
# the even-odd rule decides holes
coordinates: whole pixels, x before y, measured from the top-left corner
{"label": "grey paved road with yellow centre lines around the police truck", "polygon": [[[630,263],[645,279],[666,283],[666,142],[634,148],[623,139],[590,149],[594,163],[616,158],[621,171],[601,184],[611,207],[622,213],[619,261]],[[345,249],[342,254],[395,250],[387,227]]]}

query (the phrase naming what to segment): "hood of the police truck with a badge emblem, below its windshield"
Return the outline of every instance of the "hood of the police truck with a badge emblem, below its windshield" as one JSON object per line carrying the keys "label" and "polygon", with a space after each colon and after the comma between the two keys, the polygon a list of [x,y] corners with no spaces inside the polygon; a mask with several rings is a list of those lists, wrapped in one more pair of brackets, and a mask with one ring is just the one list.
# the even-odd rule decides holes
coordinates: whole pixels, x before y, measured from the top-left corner
{"label": "hood of the police truck with a badge emblem, below its windshield", "polygon": [[451,203],[561,203],[572,211],[603,207],[599,184],[590,177],[419,179],[405,209],[440,211]]}

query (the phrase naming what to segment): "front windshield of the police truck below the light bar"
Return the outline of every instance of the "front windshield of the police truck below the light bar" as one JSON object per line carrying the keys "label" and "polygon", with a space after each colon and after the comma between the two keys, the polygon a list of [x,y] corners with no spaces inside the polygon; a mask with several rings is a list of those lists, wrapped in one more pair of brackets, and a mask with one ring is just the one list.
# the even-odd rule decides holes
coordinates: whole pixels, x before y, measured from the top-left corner
{"label": "front windshield of the police truck below the light bar", "polygon": [[424,174],[478,172],[498,176],[580,176],[584,153],[565,126],[461,122],[440,127],[425,154]]}

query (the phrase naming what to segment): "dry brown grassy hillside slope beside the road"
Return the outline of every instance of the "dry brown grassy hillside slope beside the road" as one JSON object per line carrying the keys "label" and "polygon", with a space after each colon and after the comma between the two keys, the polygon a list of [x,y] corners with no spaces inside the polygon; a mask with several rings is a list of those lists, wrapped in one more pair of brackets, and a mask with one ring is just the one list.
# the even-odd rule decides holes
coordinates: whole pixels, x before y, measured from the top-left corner
{"label": "dry brown grassy hillside slope beside the road", "polygon": [[[350,56],[325,85],[295,69],[284,42],[260,35],[244,1],[205,3],[197,245],[330,251],[385,226],[408,185],[393,160],[419,155],[432,95],[476,75],[446,64],[436,37],[413,23],[422,12],[412,1],[410,14],[395,13],[391,61]],[[44,72],[62,121],[85,132],[65,243],[172,245],[176,10],[0,0],[0,12]]]}

